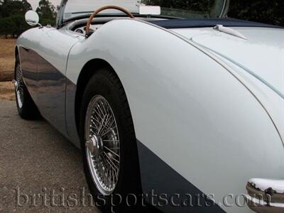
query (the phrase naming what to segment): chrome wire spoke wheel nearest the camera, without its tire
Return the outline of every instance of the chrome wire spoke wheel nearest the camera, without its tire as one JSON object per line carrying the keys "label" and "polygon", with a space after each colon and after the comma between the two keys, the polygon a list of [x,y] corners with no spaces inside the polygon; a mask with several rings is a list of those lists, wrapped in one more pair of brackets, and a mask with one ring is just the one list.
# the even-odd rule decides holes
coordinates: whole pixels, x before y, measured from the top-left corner
{"label": "chrome wire spoke wheel nearest the camera, without its tire", "polygon": [[119,130],[114,113],[101,95],[91,99],[85,120],[86,155],[99,192],[111,195],[119,180]]}

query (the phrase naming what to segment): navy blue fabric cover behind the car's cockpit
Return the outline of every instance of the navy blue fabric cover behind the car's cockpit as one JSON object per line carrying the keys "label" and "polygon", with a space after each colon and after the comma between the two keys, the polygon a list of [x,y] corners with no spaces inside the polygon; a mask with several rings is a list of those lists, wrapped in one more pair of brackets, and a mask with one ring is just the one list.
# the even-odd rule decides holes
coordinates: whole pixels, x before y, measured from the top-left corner
{"label": "navy blue fabric cover behind the car's cockpit", "polygon": [[221,24],[226,27],[261,27],[261,28],[283,28],[265,23],[243,21],[234,18],[199,18],[199,19],[168,19],[160,21],[148,21],[167,29],[174,28],[206,28]]}

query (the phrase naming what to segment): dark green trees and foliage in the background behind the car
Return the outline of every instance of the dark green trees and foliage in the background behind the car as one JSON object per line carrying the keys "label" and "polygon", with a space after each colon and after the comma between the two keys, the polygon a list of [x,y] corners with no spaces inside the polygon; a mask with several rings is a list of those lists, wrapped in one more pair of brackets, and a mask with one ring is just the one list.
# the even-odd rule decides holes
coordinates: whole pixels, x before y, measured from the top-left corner
{"label": "dark green trees and foliage in the background behind the car", "polygon": [[[142,0],[143,3],[190,11],[207,11],[214,0]],[[27,0],[0,0],[0,35],[17,37],[29,26],[24,14],[31,10]],[[40,0],[36,12],[43,25],[55,25],[56,9],[49,0]],[[231,0],[228,16],[284,26],[284,0]]]}

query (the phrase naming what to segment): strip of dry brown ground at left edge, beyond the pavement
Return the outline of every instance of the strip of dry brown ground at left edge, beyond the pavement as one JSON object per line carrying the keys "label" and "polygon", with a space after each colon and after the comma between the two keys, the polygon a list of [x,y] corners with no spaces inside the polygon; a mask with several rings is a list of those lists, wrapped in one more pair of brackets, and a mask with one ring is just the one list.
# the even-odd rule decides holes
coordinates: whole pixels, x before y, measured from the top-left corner
{"label": "strip of dry brown ground at left edge, beyond the pavement", "polygon": [[0,38],[0,99],[14,100],[13,66],[15,39]]}

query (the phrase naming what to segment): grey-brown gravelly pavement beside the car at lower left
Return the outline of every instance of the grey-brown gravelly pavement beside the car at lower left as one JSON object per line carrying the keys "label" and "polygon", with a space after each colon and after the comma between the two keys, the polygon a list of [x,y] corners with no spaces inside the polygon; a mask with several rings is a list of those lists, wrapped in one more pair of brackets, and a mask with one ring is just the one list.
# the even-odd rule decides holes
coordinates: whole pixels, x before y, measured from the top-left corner
{"label": "grey-brown gravelly pavement beside the car at lower left", "polygon": [[97,212],[80,150],[45,121],[0,99],[0,212]]}

